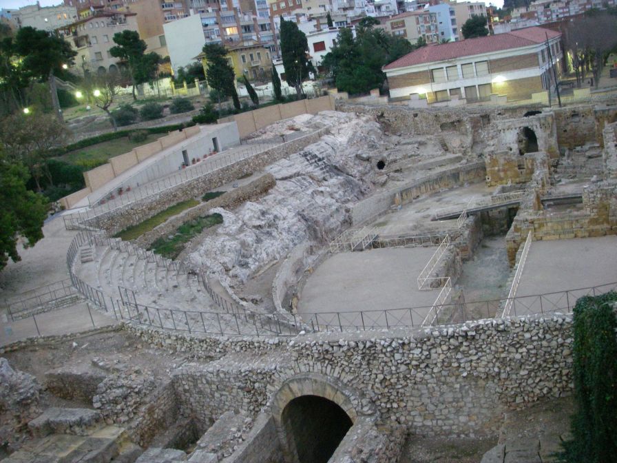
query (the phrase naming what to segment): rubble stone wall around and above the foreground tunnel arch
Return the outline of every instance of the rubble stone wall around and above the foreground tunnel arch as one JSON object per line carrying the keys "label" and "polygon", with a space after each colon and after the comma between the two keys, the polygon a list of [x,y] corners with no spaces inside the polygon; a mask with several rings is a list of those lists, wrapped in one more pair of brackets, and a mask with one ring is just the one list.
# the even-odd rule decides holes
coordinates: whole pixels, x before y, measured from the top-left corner
{"label": "rubble stone wall around and above the foreground tunnel arch", "polygon": [[[286,378],[320,373],[363,391],[381,423],[425,435],[482,435],[499,429],[506,409],[572,392],[571,328],[572,316],[554,315],[293,340],[230,338],[209,343],[227,357],[182,367],[174,384],[183,410],[213,416],[238,407],[254,415]],[[170,335],[142,336],[156,344]],[[172,336],[168,348],[208,345]],[[242,362],[238,351],[260,360]]]}

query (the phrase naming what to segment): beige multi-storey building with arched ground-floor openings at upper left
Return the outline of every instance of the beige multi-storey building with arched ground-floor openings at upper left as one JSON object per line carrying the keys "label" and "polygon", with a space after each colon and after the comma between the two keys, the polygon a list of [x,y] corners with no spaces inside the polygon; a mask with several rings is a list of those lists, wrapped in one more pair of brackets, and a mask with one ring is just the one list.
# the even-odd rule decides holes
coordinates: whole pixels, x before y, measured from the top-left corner
{"label": "beige multi-storey building with arched ground-floor openings at upper left", "polygon": [[109,53],[114,45],[114,34],[137,30],[135,13],[93,8],[92,15],[75,21],[58,32],[71,44],[77,56],[72,66],[76,72],[104,74],[118,69],[118,59]]}

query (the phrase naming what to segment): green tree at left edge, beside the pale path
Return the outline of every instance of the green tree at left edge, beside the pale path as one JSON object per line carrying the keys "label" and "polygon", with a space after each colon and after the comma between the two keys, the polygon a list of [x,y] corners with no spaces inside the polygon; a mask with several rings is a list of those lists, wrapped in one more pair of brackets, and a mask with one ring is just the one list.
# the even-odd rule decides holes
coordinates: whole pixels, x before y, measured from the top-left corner
{"label": "green tree at left edge, beside the pale path", "polygon": [[9,161],[0,149],[0,270],[8,259],[21,260],[17,240],[25,238],[25,247],[43,238],[47,204],[41,194],[28,191],[28,169]]}

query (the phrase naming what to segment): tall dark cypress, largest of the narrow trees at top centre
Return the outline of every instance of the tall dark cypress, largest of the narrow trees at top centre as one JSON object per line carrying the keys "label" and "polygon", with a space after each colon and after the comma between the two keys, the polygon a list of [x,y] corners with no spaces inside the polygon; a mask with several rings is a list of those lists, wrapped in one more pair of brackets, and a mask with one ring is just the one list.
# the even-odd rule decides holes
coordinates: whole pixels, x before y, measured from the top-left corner
{"label": "tall dark cypress, largest of the narrow trees at top centre", "polygon": [[285,21],[282,17],[280,37],[285,79],[289,85],[295,87],[297,97],[300,98],[302,81],[309,76],[309,70],[313,70],[313,65],[307,56],[309,42],[304,32],[297,28],[296,23]]}

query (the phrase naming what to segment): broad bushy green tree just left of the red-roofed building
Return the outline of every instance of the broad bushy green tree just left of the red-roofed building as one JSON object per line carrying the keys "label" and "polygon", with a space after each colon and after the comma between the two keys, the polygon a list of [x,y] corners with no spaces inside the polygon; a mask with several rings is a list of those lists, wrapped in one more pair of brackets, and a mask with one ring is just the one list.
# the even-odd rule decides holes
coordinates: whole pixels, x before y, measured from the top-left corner
{"label": "broad bushy green tree just left of the red-roofed building", "polygon": [[350,29],[341,29],[336,45],[324,57],[322,64],[334,77],[338,90],[360,94],[383,88],[386,74],[381,68],[416,48],[404,37],[373,25],[373,21],[359,24],[356,37]]}

